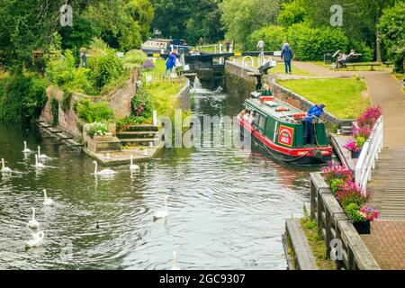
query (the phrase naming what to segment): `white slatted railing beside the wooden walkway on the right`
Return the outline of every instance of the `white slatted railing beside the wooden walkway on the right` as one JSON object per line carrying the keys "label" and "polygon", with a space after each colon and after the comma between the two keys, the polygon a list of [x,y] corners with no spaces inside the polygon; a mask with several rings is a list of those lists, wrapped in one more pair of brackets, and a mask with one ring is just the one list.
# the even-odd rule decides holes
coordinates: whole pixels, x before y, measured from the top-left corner
{"label": "white slatted railing beside the wooden walkway on the right", "polygon": [[370,138],[365,142],[360,157],[358,158],[355,176],[356,182],[366,187],[371,181],[372,169],[383,148],[383,116],[376,121]]}

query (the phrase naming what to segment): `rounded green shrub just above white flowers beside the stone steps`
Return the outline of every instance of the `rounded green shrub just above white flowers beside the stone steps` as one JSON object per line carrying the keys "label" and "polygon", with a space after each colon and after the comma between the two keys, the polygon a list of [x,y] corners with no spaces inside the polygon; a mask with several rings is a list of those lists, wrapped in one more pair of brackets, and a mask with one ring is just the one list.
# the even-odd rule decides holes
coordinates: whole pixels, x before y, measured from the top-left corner
{"label": "rounded green shrub just above white flowers beside the stone steps", "polygon": [[105,102],[93,103],[89,100],[81,100],[75,106],[78,117],[87,123],[109,121],[114,115],[108,103]]}

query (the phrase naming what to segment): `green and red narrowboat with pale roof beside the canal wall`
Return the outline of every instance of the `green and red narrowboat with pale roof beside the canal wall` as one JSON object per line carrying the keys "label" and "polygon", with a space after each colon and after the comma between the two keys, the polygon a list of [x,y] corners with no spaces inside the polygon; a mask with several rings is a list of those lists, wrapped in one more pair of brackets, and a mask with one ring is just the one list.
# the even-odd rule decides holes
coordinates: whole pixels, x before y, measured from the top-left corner
{"label": "green and red narrowboat with pale roof beside the canal wall", "polygon": [[270,157],[300,166],[328,163],[332,148],[325,124],[320,120],[313,124],[316,144],[305,145],[305,116],[305,112],[289,103],[253,92],[245,102],[245,110],[238,114],[238,125],[242,137],[246,136],[243,133],[250,133],[252,148],[259,148]]}

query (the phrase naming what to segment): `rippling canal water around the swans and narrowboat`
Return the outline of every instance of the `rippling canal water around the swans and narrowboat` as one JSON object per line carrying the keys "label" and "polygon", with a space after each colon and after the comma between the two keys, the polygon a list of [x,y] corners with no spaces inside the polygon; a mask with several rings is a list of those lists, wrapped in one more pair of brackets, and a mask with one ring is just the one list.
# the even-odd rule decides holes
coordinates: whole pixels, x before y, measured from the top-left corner
{"label": "rippling canal water around the swans and narrowboat", "polygon": [[[240,103],[197,89],[193,114],[235,116]],[[52,157],[36,171],[23,140]],[[0,269],[285,269],[284,220],[302,214],[313,168],[275,162],[240,148],[173,148],[139,164],[92,175],[92,160],[31,127],[0,124]],[[56,205],[42,206],[42,189]],[[169,195],[169,216],[152,220]],[[26,250],[31,207],[43,247]],[[99,228],[96,228],[98,221]]]}

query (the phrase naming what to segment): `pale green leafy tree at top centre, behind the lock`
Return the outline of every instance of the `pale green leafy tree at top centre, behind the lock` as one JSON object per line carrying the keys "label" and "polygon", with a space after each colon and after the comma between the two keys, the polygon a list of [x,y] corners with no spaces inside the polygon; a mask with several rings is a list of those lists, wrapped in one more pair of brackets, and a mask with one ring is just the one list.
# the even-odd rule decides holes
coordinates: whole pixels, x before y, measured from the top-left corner
{"label": "pale green leafy tree at top centre, behind the lock", "polygon": [[252,31],[276,23],[279,8],[279,0],[224,0],[220,11],[227,37],[246,44]]}

